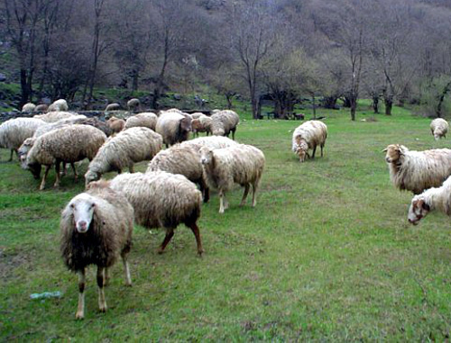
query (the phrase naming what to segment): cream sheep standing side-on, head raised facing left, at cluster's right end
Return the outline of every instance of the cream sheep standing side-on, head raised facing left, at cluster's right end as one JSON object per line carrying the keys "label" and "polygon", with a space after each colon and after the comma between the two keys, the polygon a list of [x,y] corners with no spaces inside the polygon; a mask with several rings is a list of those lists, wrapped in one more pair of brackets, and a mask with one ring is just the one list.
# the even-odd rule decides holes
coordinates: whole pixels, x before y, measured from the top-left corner
{"label": "cream sheep standing side-on, head raised facing left, at cluster's right end", "polygon": [[204,167],[207,185],[219,192],[219,213],[224,213],[228,208],[226,192],[234,183],[244,186],[240,206],[245,203],[250,185],[253,186],[252,206],[255,206],[255,194],[265,164],[262,150],[245,144],[223,149],[203,147],[200,149],[200,161]]}

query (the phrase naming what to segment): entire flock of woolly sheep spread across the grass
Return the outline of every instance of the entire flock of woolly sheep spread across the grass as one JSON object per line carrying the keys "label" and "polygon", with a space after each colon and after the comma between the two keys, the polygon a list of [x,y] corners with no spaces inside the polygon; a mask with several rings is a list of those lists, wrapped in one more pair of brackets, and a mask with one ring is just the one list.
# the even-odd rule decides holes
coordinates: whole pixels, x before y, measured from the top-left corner
{"label": "entire flock of woolly sheep spread across the grass", "polygon": [[[133,111],[139,107],[139,101],[132,100],[129,109]],[[33,106],[24,105],[23,113],[33,113]],[[117,104],[109,104],[106,113],[117,108]],[[202,201],[209,200],[210,188],[219,194],[220,213],[226,211],[226,193],[235,184],[244,187],[240,205],[244,205],[252,187],[255,206],[265,157],[262,150],[235,141],[239,122],[235,112],[215,111],[207,116],[170,109],[158,115],[137,113],[126,120],[110,117],[102,122],[68,110],[68,104],[60,99],[49,106],[47,113],[4,122],[0,125],[0,148],[11,149],[10,160],[15,151],[23,169],[30,170],[37,179],[41,166],[45,167],[41,190],[52,167],[58,186],[66,164],[70,164],[77,179],[75,163],[89,160],[86,192],[66,205],[60,220],[60,251],[69,269],[78,274],[76,318],[84,318],[88,265],[97,266],[100,311],[106,311],[104,285],[108,267],[119,256],[124,263],[126,284],[132,284],[127,255],[133,222],[166,231],[159,252],[164,251],[174,230],[184,223],[195,236],[200,256],[203,247],[198,218]],[[444,120],[431,123],[436,140],[445,137],[447,130]],[[194,137],[198,132],[207,132],[207,136],[189,140],[189,132]],[[234,140],[225,137],[230,133]],[[292,151],[300,162],[310,158],[309,149],[311,158],[315,158],[318,146],[323,156],[326,140],[324,122],[304,122],[293,131]],[[162,149],[163,144],[167,149]],[[451,149],[410,151],[396,144],[384,151],[393,184],[417,194],[410,205],[411,223],[418,223],[435,208],[451,215]],[[134,173],[133,165],[145,160],[150,161],[146,172]],[[125,168],[130,173],[121,174]],[[101,179],[111,171],[119,175],[111,180]]]}

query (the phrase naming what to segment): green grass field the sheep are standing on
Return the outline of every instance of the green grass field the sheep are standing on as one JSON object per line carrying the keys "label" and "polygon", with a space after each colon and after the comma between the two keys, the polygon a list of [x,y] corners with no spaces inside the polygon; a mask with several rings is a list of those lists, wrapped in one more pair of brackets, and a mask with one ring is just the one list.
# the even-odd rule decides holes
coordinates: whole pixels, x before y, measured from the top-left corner
{"label": "green grass field the sheep are standing on", "polygon": [[[135,227],[133,287],[122,264],[97,312],[95,268],[87,273],[86,318],[75,320],[77,275],[59,252],[60,211],[83,191],[71,173],[45,191],[17,162],[0,178],[0,338],[7,341],[448,340],[451,329],[449,219],[433,212],[410,226],[411,194],[391,185],[384,149],[449,147],[429,120],[396,109],[357,122],[324,112],[324,158],[300,164],[290,151],[294,121],[243,121],[237,140],[262,149],[267,165],[257,206],[229,194],[219,215],[213,194],[199,222],[206,253],[176,231],[167,251],[161,230]],[[9,152],[3,149],[5,160]],[[84,174],[87,163],[81,167]],[[137,167],[145,169],[145,163]],[[108,175],[107,177],[112,177]],[[31,300],[60,291],[61,298]]]}

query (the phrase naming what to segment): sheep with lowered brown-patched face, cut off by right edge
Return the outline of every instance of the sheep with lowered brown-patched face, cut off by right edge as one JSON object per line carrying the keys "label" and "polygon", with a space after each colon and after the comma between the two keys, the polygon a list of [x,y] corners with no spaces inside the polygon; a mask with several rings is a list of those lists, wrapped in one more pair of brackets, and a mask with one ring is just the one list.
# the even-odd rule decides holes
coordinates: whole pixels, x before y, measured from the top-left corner
{"label": "sheep with lowered brown-patched face, cut off by right edge", "polygon": [[407,217],[411,224],[417,225],[428,215],[428,212],[436,209],[451,216],[451,177],[448,177],[440,187],[429,188],[415,195],[410,203]]}

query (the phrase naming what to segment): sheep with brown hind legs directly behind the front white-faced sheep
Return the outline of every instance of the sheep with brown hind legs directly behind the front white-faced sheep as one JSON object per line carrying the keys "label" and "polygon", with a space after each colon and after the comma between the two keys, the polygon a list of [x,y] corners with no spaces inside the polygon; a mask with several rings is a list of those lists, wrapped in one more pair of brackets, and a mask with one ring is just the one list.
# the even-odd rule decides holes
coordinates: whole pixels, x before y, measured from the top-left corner
{"label": "sheep with brown hind legs directly behind the front white-faced sheep", "polygon": [[132,203],[134,221],[145,228],[166,230],[158,252],[161,254],[174,235],[179,223],[184,223],[194,233],[198,255],[203,253],[198,229],[202,195],[196,185],[185,176],[164,171],[124,173],[107,182],[115,191],[125,195]]}

